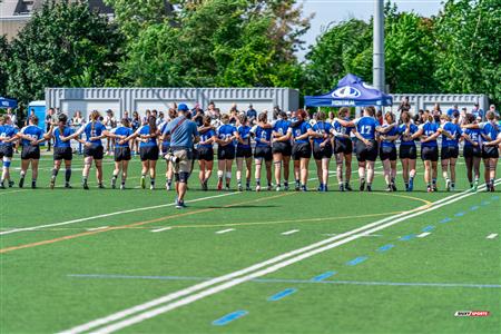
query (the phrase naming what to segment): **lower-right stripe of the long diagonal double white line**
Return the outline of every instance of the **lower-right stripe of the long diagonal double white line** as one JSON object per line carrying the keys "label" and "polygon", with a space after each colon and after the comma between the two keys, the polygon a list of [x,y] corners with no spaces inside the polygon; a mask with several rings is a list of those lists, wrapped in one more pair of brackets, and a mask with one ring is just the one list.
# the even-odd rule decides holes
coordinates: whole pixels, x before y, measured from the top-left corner
{"label": "lower-right stripe of the long diagonal double white line", "polygon": [[[428,212],[435,210],[435,209],[438,209],[438,208],[440,208],[440,207],[442,207],[442,206],[445,206],[445,205],[452,204],[452,203],[454,203],[454,202],[461,200],[461,199],[466,198],[466,197],[469,197],[469,196],[472,196],[472,195],[474,195],[474,194],[475,194],[475,193],[470,193],[470,191],[466,190],[466,191],[463,191],[461,196],[458,196],[458,197],[455,197],[455,198],[451,198],[451,197],[452,197],[452,196],[451,196],[451,197],[449,197],[449,200],[446,200],[446,202],[442,202],[442,203],[439,204],[439,205],[434,205],[434,206],[431,206],[431,207],[429,207],[429,208],[424,208],[424,209],[421,209],[421,210],[419,210],[419,212],[415,212],[415,213],[413,213],[413,214],[407,214],[406,216],[403,216],[403,217],[400,217],[400,218],[390,220],[390,222],[387,222],[387,223],[385,223],[385,224],[375,226],[375,227],[369,229],[367,233],[373,233],[373,232],[381,230],[381,229],[383,229],[383,228],[390,227],[390,226],[395,225],[395,224],[397,224],[397,223],[404,222],[404,220],[406,220],[406,219],[409,219],[409,218],[413,218],[413,217],[420,216],[420,215],[425,214],[425,213],[428,213]],[[369,225],[371,225],[371,224],[369,224]],[[348,234],[350,234],[350,233],[345,233],[344,235],[348,235]],[[128,327],[128,326],[130,326],[130,325],[140,323],[140,322],[143,322],[143,321],[145,321],[145,320],[155,317],[155,316],[157,316],[157,315],[159,315],[159,314],[163,314],[163,313],[169,312],[169,311],[171,311],[171,310],[178,308],[178,307],[180,307],[180,306],[190,304],[190,303],[196,302],[196,301],[198,301],[198,299],[202,299],[202,298],[204,298],[204,297],[206,297],[206,296],[214,295],[214,294],[216,294],[216,293],[218,293],[218,292],[228,289],[228,288],[230,288],[230,287],[233,287],[233,286],[235,286],[235,285],[239,285],[239,284],[245,283],[245,282],[248,282],[248,281],[250,281],[250,279],[254,279],[254,278],[257,278],[257,277],[261,277],[261,276],[264,276],[264,275],[274,273],[274,272],[276,272],[276,271],[278,271],[278,269],[281,269],[281,268],[283,268],[283,267],[286,267],[286,266],[288,266],[288,265],[292,265],[292,264],[294,264],[294,263],[297,263],[297,262],[299,262],[299,261],[303,261],[303,259],[305,259],[305,258],[308,258],[308,257],[311,257],[311,256],[313,256],[313,255],[316,255],[316,254],[318,254],[318,253],[323,253],[323,252],[325,252],[325,250],[328,250],[328,249],[335,248],[335,247],[337,247],[337,246],[341,246],[341,245],[343,245],[343,244],[350,243],[350,242],[352,242],[352,240],[354,240],[354,239],[357,239],[357,238],[360,238],[360,237],[362,237],[362,234],[353,234],[353,233],[352,233],[351,236],[347,236],[347,237],[344,238],[344,239],[341,239],[341,240],[337,240],[337,242],[335,242],[335,243],[327,244],[327,245],[325,245],[325,246],[323,246],[323,247],[320,247],[320,248],[316,248],[316,249],[313,249],[313,250],[303,253],[303,254],[301,254],[301,255],[298,255],[298,256],[288,258],[288,259],[284,261],[284,262],[281,262],[281,263],[277,263],[277,264],[275,264],[275,265],[273,265],[273,266],[269,266],[269,267],[267,267],[267,268],[264,268],[264,269],[254,272],[254,273],[252,273],[252,274],[249,274],[249,275],[246,275],[246,276],[242,276],[242,277],[238,277],[238,278],[234,278],[234,279],[227,281],[227,282],[225,282],[225,283],[223,283],[223,284],[220,284],[220,285],[217,285],[217,286],[210,287],[210,288],[208,288],[208,289],[202,291],[202,292],[199,292],[199,293],[193,294],[193,295],[190,295],[190,296],[180,298],[180,299],[178,299],[178,301],[176,301],[176,302],[173,302],[173,303],[170,303],[170,304],[167,304],[167,305],[164,305],[164,306],[159,306],[159,307],[157,307],[157,308],[154,308],[154,310],[150,310],[150,311],[146,311],[146,312],[144,312],[144,313],[137,314],[137,315],[135,315],[135,316],[132,316],[132,317],[129,317],[129,318],[127,318],[127,320],[117,322],[117,323],[115,323],[115,324],[104,326],[104,327],[101,327],[101,328],[99,328],[99,330],[97,330],[97,331],[94,331],[94,332],[91,332],[91,333],[94,333],[94,334],[107,334],[107,333],[116,332],[116,331],[118,331],[118,330],[121,330],[121,328]],[[195,286],[196,286],[196,285],[195,285]],[[184,289],[184,291],[188,291],[188,289],[190,289],[190,288],[186,288],[186,289]],[[169,295],[167,295],[167,296],[176,295],[176,294],[179,294],[179,293],[181,293],[181,292],[183,292],[183,289],[179,291],[179,292],[177,292],[177,293],[169,294]],[[167,296],[165,296],[165,297],[167,297]],[[125,312],[130,312],[130,311],[132,311],[132,310],[138,310],[138,308],[140,308],[140,307],[143,307],[143,306],[145,306],[145,305],[151,305],[151,303],[154,303],[154,302],[156,302],[156,301],[159,301],[159,299],[161,299],[161,298],[165,298],[165,297],[160,297],[160,298],[158,298],[158,299],[155,299],[155,301],[151,301],[151,302],[141,304],[141,305],[134,306],[134,307],[131,307],[131,308],[128,308],[128,310],[126,310],[126,311],[119,312],[119,313],[117,313],[117,314],[124,314]],[[161,304],[164,304],[164,303],[161,303]],[[147,308],[150,308],[150,307],[147,307]],[[137,312],[137,311],[136,311],[136,312]],[[115,315],[116,315],[116,314],[115,314]],[[111,316],[114,316],[114,315],[111,315]],[[110,317],[111,317],[111,316],[110,316]],[[124,317],[124,316],[122,316],[122,317]],[[115,318],[115,320],[118,320],[118,318]],[[98,321],[100,321],[100,320],[98,320]],[[95,321],[95,322],[96,322],[96,321]],[[95,323],[95,322],[90,322],[90,323],[88,323],[88,324],[86,324],[86,325],[92,324],[92,323]],[[105,324],[107,324],[107,323],[109,323],[109,322],[110,322],[110,321],[107,321],[107,322],[105,322]],[[82,326],[86,326],[86,325],[82,325]],[[92,326],[92,327],[96,327],[96,326]],[[92,327],[90,327],[90,328],[92,328]],[[76,327],[76,328],[78,328],[78,327]],[[81,331],[85,331],[85,330],[76,331],[76,328],[69,330],[68,332],[63,332],[63,333],[81,333]],[[89,327],[87,327],[86,330],[89,330]]]}

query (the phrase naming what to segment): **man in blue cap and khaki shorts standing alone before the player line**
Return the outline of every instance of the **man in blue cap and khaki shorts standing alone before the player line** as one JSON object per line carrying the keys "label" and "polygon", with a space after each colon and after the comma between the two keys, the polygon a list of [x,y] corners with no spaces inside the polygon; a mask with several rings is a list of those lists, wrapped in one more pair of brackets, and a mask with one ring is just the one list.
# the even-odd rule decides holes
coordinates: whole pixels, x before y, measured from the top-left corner
{"label": "man in blue cap and khaki shorts standing alone before the player line", "polygon": [[194,143],[199,140],[197,125],[186,118],[188,106],[179,104],[177,117],[170,121],[164,135],[170,135],[171,155],[177,161],[174,164],[174,178],[176,180],[176,208],[185,208],[185,194],[191,170]]}

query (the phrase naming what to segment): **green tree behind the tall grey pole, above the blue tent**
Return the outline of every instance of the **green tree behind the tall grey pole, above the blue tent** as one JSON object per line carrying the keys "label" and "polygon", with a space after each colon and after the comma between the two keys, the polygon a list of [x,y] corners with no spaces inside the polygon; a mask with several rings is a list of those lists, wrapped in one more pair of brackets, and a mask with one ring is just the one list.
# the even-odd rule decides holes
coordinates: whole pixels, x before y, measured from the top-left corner
{"label": "green tree behind the tall grey pole, above the blue tent", "polygon": [[[306,94],[332,89],[348,72],[372,81],[373,22],[330,27],[306,55]],[[433,20],[385,6],[385,81],[391,92],[430,92],[434,85]]]}

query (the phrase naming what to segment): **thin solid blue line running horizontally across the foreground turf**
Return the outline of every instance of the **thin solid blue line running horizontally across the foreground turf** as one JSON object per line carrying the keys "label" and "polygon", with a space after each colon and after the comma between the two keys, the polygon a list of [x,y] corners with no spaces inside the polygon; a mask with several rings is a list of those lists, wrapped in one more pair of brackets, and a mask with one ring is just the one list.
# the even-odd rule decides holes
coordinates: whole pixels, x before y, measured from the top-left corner
{"label": "thin solid blue line running horizontally across the foreground turf", "polygon": [[[106,275],[106,274],[70,274],[67,277],[77,278],[122,278],[122,279],[160,279],[160,281],[207,281],[214,277],[191,277],[191,276],[128,276],[128,275]],[[276,283],[276,284],[348,284],[348,285],[389,285],[389,286],[430,286],[430,287],[473,287],[473,288],[501,288],[501,284],[475,284],[475,283],[421,283],[421,282],[373,282],[373,281],[312,281],[291,278],[255,278],[254,283]]]}

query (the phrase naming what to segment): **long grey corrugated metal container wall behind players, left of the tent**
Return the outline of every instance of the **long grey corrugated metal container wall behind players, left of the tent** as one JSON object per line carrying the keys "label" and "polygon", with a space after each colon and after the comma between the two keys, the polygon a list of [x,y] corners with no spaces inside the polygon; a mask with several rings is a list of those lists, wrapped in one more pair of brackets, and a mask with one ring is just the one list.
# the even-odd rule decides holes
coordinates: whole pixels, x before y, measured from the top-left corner
{"label": "long grey corrugated metal container wall behind players, left of the tent", "polygon": [[274,106],[283,110],[295,110],[299,104],[299,92],[288,88],[47,88],[47,108],[59,108],[71,117],[80,110],[85,118],[91,110],[111,109],[119,118],[124,111],[146,109],[167,111],[174,102],[185,102],[188,107],[199,104],[204,109],[213,101],[222,112],[227,112],[232,104],[238,110],[247,110],[253,105],[257,111]]}

